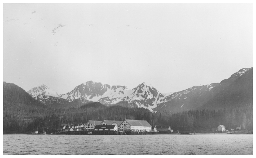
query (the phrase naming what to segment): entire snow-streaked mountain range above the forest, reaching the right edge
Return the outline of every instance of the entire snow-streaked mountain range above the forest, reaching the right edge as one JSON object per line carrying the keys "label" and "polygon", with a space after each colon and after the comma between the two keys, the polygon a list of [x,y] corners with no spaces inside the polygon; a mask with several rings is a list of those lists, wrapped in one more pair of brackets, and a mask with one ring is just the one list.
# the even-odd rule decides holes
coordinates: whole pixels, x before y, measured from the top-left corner
{"label": "entire snow-streaked mountain range above the forest, reaching the right edge", "polygon": [[46,85],[34,87],[27,93],[40,103],[52,106],[100,102],[106,106],[126,103],[131,108],[147,108],[151,112],[217,109],[252,103],[252,72],[253,68],[243,68],[220,83],[194,86],[173,93],[161,93],[146,83],[128,89],[126,86],[93,81],[82,83],[66,94],[57,94]]}

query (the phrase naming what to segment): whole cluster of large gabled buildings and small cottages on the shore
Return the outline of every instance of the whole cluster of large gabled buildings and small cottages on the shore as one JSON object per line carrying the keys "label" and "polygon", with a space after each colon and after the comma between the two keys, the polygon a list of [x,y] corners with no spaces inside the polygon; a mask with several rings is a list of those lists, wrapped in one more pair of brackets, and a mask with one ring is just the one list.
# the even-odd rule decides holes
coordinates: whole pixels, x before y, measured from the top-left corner
{"label": "whole cluster of large gabled buildings and small cottages on the shore", "polygon": [[88,121],[86,124],[62,125],[61,128],[62,131],[152,131],[152,126],[147,121],[127,119],[124,121]]}

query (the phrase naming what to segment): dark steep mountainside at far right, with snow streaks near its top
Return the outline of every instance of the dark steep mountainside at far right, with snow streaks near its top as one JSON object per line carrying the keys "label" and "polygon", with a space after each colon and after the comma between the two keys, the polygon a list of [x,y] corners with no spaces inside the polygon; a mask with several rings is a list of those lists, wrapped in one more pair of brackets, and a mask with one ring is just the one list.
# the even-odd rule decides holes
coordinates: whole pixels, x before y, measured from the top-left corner
{"label": "dark steep mountainside at far right, with snow streaks near its top", "polygon": [[253,101],[253,68],[241,69],[214,89],[216,94],[201,109],[245,106]]}

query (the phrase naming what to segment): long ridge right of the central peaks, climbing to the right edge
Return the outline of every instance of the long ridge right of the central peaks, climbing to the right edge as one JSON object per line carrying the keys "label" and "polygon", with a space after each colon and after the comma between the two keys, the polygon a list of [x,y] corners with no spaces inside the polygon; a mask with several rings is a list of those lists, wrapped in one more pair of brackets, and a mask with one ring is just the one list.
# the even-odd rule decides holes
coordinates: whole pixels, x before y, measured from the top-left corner
{"label": "long ridge right of the central peaks, climbing to the right edge", "polygon": [[[251,77],[249,76],[250,74]],[[243,82],[239,81],[243,78],[246,78]],[[248,79],[249,81],[247,81]],[[190,109],[200,109],[202,107],[204,107],[204,109],[225,107],[231,104],[231,100],[245,100],[244,98],[247,98],[248,95],[252,94],[252,91],[248,92],[246,90],[250,89],[252,86],[245,88],[252,83],[250,79],[252,79],[252,68],[243,68],[231,75],[229,79],[222,80],[221,83],[194,86],[180,92],[175,92],[170,96],[166,96],[163,100],[160,100],[162,103],[158,104],[153,111],[179,112]],[[236,96],[231,95],[235,92],[237,92]],[[245,94],[248,95],[246,96]],[[228,100],[228,98],[230,98],[229,101],[223,101]],[[233,102],[233,105],[234,104],[236,103]]]}

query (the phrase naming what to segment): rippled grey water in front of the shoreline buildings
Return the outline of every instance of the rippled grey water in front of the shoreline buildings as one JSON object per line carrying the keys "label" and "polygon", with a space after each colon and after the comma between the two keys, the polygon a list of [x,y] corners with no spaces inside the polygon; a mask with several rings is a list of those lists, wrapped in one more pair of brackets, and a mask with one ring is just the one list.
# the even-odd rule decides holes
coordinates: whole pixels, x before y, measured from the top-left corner
{"label": "rippled grey water in front of the shoreline buildings", "polygon": [[4,154],[252,154],[252,135],[4,135]]}

